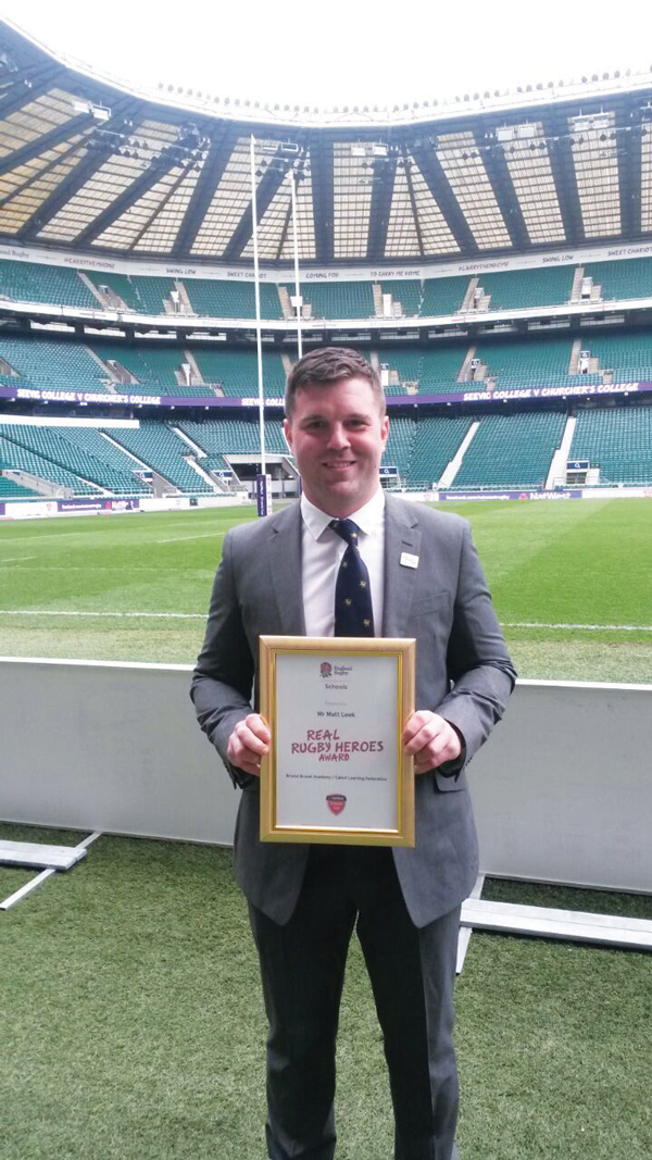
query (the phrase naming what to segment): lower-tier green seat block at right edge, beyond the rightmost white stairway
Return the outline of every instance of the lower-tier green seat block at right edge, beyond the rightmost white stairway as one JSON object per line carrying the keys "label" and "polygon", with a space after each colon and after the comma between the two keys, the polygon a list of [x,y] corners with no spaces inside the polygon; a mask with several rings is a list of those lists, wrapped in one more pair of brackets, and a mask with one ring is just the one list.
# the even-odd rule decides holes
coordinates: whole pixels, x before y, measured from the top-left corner
{"label": "lower-tier green seat block at right edge, beyond the rightmost white stairway", "polygon": [[568,458],[600,467],[601,484],[652,484],[652,407],[580,411]]}

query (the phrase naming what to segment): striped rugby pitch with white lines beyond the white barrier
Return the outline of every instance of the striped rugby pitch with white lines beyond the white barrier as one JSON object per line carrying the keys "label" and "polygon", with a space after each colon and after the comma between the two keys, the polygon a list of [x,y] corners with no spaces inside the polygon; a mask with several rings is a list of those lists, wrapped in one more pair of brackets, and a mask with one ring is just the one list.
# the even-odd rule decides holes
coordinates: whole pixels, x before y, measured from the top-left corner
{"label": "striped rugby pitch with white lines beyond the white barrier", "polygon": [[[441,507],[472,522],[521,676],[652,683],[650,500]],[[193,664],[224,535],[249,519],[222,508],[0,524],[0,654]],[[126,611],[190,615],[108,615]]]}

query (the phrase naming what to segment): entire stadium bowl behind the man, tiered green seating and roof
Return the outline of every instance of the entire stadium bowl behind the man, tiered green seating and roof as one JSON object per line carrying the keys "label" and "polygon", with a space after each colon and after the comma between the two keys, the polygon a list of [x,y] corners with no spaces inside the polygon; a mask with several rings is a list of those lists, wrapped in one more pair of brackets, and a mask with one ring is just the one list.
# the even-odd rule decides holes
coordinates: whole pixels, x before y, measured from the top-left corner
{"label": "entire stadium bowl behind the man, tiered green seating and roof", "polygon": [[327,114],[152,96],[3,22],[0,503],[246,494],[252,138],[277,493],[297,327],[382,375],[387,486],[649,490],[652,75],[528,89]]}

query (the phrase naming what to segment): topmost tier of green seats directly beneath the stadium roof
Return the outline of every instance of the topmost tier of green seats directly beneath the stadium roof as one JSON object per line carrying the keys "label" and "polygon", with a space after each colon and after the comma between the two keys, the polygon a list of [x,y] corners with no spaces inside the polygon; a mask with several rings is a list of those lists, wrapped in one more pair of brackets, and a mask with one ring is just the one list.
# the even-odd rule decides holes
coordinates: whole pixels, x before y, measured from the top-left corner
{"label": "topmost tier of green seats directly beneath the stadium roof", "polygon": [[[289,282],[260,287],[261,318],[295,319]],[[450,318],[479,321],[497,311],[652,298],[652,258],[562,264],[429,278],[306,281],[300,284],[302,318],[316,320]],[[113,311],[147,317],[255,318],[253,282],[125,274],[0,260],[0,303],[38,303],[71,312]]]}

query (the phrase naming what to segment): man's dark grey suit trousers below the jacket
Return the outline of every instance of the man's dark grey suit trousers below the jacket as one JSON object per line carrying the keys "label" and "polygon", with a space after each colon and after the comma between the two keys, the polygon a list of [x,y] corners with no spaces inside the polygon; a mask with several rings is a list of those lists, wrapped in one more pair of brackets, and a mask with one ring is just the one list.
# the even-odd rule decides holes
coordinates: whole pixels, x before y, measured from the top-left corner
{"label": "man's dark grey suit trousers below the jacket", "polygon": [[335,1037],[354,929],[383,1031],[394,1158],[450,1160],[458,1105],[452,987],[459,907],[419,929],[387,849],[313,847],[289,922],[276,923],[254,906],[249,915],[269,1021],[271,1160],[334,1155]]}

